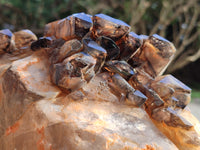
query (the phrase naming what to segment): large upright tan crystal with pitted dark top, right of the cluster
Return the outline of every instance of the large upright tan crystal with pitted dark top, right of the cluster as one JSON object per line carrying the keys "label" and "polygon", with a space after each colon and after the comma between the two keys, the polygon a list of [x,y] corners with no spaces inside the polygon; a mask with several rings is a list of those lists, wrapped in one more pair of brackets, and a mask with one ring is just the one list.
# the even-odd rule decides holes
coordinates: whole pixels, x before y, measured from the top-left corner
{"label": "large upright tan crystal with pitted dark top, right of the cluster", "polygon": [[145,72],[156,77],[165,71],[175,51],[172,43],[158,35],[153,35],[144,40],[140,51],[132,58],[132,61],[138,61],[137,63],[141,64]]}

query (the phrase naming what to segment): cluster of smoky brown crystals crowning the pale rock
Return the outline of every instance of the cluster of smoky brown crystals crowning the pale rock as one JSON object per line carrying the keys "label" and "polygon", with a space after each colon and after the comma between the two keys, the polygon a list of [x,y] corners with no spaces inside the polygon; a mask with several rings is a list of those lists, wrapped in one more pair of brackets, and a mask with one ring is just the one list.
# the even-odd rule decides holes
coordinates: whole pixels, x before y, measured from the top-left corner
{"label": "cluster of smoky brown crystals crowning the pale rock", "polygon": [[144,108],[179,148],[184,144],[165,132],[194,132],[193,140],[186,137],[186,143],[200,145],[194,125],[181,114],[190,102],[191,89],[172,75],[162,75],[176,52],[163,37],[137,35],[121,20],[85,13],[48,23],[38,40],[29,30],[0,31],[1,53],[27,47],[48,54],[51,81],[64,93],[84,95],[88,84],[101,75],[117,103]]}

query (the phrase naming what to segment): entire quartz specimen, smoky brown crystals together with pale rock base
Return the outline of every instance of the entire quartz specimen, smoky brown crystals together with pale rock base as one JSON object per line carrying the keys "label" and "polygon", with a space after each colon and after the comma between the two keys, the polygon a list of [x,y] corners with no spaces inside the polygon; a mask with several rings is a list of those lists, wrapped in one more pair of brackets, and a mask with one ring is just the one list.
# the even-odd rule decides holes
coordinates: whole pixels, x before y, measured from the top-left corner
{"label": "entire quartz specimen, smoky brown crystals together with pale rock base", "polygon": [[0,149],[199,150],[191,89],[162,75],[176,51],[104,14],[0,30]]}

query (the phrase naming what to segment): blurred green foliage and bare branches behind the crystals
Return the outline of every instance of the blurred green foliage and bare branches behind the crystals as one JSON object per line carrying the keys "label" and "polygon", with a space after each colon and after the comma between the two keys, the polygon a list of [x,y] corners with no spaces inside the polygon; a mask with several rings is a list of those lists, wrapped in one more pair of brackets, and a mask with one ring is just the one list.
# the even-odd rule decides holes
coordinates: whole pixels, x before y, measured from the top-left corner
{"label": "blurred green foliage and bare branches behind the crystals", "polygon": [[199,0],[0,0],[0,29],[30,29],[39,37],[46,23],[77,12],[104,13],[137,34],[157,33],[173,42],[177,53],[166,73],[189,85],[193,103],[200,104]]}

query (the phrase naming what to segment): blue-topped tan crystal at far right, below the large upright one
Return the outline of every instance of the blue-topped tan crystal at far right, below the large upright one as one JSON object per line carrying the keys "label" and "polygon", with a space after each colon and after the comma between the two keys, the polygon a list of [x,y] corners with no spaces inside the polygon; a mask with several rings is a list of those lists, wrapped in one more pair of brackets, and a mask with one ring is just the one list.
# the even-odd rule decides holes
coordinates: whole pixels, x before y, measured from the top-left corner
{"label": "blue-topped tan crystal at far right, below the large upright one", "polygon": [[159,76],[150,83],[168,105],[185,108],[190,102],[191,89],[172,75]]}

